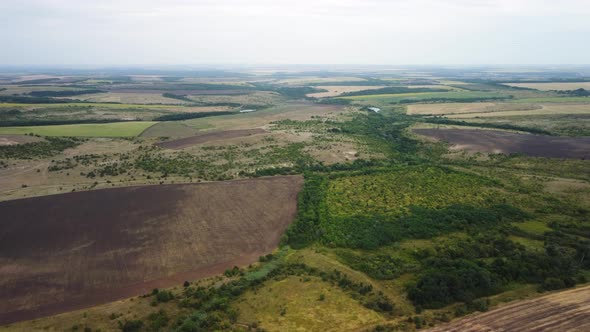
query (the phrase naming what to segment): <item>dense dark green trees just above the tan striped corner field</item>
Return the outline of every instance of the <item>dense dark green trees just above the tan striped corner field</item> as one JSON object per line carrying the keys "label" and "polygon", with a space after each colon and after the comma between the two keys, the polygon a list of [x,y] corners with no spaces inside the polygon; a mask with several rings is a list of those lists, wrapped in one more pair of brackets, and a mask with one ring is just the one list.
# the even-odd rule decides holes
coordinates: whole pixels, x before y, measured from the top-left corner
{"label": "dense dark green trees just above the tan striped corner field", "polygon": [[432,255],[418,254],[426,269],[409,286],[408,297],[415,305],[440,308],[453,302],[469,305],[513,282],[555,290],[585,281],[580,273],[584,252],[562,243],[562,236],[548,236],[543,252],[528,251],[507,236],[502,227],[494,228],[445,243]]}

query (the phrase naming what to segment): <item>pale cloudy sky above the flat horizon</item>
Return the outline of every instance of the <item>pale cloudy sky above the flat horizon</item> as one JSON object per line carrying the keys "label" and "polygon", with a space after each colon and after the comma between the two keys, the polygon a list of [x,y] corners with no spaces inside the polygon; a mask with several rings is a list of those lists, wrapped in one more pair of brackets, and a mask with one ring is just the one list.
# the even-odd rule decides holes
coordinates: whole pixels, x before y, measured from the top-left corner
{"label": "pale cloudy sky above the flat horizon", "polygon": [[0,65],[590,64],[590,0],[0,0]]}

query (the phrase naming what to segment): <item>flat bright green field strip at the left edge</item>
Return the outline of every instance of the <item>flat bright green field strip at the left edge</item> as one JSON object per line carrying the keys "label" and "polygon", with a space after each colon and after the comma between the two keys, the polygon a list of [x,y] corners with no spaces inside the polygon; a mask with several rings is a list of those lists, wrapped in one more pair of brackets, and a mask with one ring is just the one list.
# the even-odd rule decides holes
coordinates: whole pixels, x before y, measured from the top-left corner
{"label": "flat bright green field strip at the left edge", "polygon": [[0,127],[0,134],[29,134],[41,136],[134,137],[157,122],[129,121],[33,127]]}

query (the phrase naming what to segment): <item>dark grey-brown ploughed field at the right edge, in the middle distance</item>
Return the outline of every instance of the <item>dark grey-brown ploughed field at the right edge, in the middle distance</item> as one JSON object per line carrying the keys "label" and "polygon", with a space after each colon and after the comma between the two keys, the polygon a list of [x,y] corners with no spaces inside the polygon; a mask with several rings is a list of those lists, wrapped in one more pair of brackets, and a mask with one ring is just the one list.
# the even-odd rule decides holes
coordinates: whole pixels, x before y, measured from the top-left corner
{"label": "dark grey-brown ploughed field at the right edge, in the middle distance", "polygon": [[590,137],[542,136],[478,129],[414,129],[413,132],[448,142],[456,150],[590,159]]}

